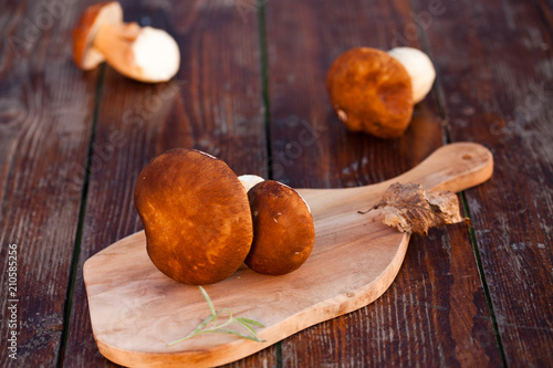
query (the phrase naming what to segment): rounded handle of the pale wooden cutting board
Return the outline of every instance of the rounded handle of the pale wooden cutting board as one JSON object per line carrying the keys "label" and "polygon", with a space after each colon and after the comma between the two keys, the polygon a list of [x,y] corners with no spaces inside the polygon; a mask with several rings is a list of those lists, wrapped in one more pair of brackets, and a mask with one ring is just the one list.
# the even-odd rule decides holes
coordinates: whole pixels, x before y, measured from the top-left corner
{"label": "rounded handle of the pale wooden cutting board", "polygon": [[484,182],[492,174],[491,151],[482,145],[463,141],[438,148],[415,168],[393,180],[458,192]]}

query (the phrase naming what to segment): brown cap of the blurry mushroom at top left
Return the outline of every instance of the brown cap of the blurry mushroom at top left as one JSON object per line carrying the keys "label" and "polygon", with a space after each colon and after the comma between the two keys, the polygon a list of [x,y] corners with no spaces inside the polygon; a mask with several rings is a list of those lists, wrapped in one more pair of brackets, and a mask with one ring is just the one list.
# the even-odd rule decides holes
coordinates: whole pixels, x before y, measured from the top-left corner
{"label": "brown cap of the blurry mushroom at top left", "polygon": [[92,46],[101,24],[123,22],[123,9],[117,1],[101,2],[88,7],[81,15],[73,30],[73,60],[85,70],[92,70],[102,63],[104,55]]}

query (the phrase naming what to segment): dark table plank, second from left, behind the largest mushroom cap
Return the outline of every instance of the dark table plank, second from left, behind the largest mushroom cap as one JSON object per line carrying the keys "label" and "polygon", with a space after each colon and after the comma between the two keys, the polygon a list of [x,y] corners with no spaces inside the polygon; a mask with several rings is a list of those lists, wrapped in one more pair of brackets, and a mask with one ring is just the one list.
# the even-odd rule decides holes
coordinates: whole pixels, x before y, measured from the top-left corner
{"label": "dark table plank, second from left, behind the largest mushroom cap", "polygon": [[[261,67],[257,13],[229,1],[123,2],[126,19],[173,34],[181,69],[166,84],[104,78],[86,215],[71,311],[65,367],[112,367],[93,338],[83,263],[142,229],[133,204],[136,177],[164,150],[194,147],[218,156],[238,174],[265,176]],[[234,367],[274,366],[275,348]]]}

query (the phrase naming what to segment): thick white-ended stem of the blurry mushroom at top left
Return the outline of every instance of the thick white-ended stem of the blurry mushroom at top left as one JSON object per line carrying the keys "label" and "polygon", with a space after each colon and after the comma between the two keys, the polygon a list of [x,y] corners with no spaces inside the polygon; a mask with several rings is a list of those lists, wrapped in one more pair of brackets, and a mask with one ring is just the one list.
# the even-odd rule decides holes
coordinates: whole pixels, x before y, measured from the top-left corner
{"label": "thick white-ended stem of the blurry mushroom at top left", "polygon": [[142,82],[168,81],[180,64],[178,45],[167,32],[137,23],[104,23],[92,45],[119,73]]}

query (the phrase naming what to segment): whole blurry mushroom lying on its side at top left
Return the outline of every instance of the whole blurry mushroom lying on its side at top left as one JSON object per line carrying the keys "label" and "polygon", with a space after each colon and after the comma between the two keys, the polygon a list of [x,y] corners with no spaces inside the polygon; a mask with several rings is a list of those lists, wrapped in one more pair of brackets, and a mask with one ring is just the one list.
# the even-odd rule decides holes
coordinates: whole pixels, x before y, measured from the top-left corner
{"label": "whole blurry mushroom lying on its side at top left", "polygon": [[179,69],[177,42],[165,31],[123,22],[116,1],[88,7],[73,30],[73,59],[88,71],[106,61],[140,82],[165,82]]}

